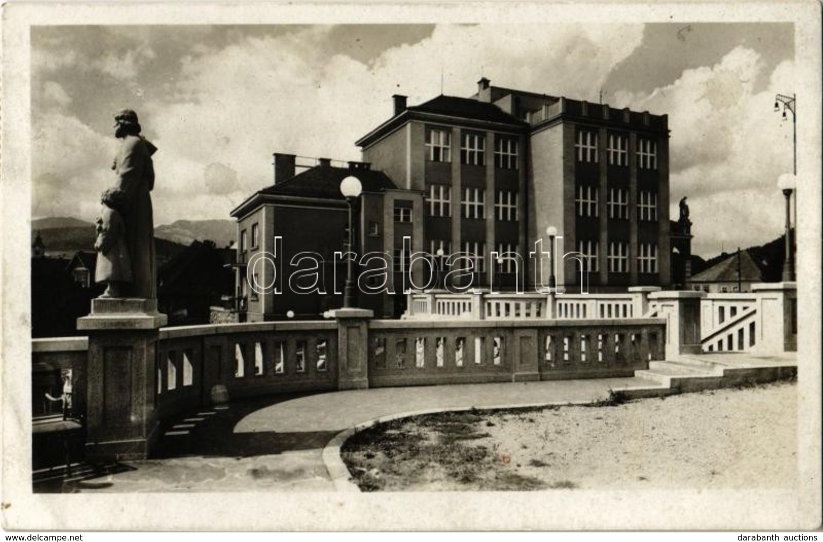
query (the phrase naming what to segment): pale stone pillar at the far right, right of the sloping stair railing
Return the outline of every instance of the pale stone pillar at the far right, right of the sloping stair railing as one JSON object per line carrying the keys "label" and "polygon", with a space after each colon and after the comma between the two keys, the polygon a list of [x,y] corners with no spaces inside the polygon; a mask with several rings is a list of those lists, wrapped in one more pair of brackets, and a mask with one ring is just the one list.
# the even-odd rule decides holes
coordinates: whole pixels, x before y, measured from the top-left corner
{"label": "pale stone pillar at the far right, right of the sloping stair railing", "polygon": [[797,351],[797,282],[751,285],[757,295],[754,350],[763,354]]}

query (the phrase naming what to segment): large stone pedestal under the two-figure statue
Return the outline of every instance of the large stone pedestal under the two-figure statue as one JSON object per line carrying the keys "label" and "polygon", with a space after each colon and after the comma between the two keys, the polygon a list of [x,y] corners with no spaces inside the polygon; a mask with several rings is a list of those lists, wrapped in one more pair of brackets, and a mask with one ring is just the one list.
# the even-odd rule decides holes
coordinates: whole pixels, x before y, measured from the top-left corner
{"label": "large stone pedestal under the two-figure statue", "polygon": [[145,459],[159,436],[156,299],[92,299],[88,331],[86,459]]}

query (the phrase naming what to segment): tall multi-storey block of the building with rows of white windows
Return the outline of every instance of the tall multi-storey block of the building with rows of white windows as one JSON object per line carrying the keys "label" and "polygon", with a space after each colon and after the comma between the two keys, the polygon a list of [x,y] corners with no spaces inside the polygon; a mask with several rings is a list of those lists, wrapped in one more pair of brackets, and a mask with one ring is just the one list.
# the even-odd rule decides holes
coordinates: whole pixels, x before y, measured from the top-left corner
{"label": "tall multi-storey block of the building with rows of white windows", "polygon": [[567,290],[671,284],[667,115],[485,78],[470,98],[393,100],[393,117],[357,141],[363,160],[426,194],[423,246],[474,253],[477,285],[511,287],[512,265],[490,255],[512,251],[536,286],[528,253],[541,241],[547,250],[549,226],[566,255],[556,280]]}

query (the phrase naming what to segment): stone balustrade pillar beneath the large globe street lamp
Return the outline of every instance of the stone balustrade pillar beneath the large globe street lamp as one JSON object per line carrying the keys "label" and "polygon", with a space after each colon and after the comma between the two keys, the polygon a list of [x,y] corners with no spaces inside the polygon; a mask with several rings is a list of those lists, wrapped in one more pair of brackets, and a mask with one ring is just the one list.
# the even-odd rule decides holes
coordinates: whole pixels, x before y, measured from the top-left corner
{"label": "stone balustrade pillar beneath the large globe street lamp", "polygon": [[338,308],[337,389],[360,390],[369,387],[369,320],[374,311],[365,308]]}

